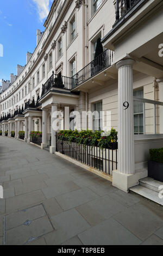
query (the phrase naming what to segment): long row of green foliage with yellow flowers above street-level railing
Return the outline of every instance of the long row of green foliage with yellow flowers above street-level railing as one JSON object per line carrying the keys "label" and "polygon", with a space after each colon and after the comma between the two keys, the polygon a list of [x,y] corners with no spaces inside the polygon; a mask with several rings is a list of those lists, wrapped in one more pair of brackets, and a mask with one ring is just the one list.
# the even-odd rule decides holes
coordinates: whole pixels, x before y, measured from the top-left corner
{"label": "long row of green foliage with yellow flowers above street-level railing", "polygon": [[111,148],[111,145],[117,142],[117,131],[112,128],[108,136],[102,136],[102,133],[103,131],[92,132],[91,130],[82,130],[79,132],[77,130],[62,130],[58,132],[57,136],[60,141],[83,144],[84,148],[86,148],[86,145],[90,145],[91,147]]}

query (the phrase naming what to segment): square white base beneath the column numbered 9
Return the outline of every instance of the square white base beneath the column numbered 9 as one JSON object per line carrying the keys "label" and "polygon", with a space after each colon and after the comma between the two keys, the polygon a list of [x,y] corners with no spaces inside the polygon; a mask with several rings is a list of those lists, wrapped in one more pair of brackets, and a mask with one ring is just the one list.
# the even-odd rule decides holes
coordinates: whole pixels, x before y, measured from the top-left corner
{"label": "square white base beneath the column numbered 9", "polygon": [[124,174],[117,170],[112,171],[112,186],[124,192],[129,192],[130,187],[139,185],[139,180],[148,176],[148,170],[139,170],[135,174]]}

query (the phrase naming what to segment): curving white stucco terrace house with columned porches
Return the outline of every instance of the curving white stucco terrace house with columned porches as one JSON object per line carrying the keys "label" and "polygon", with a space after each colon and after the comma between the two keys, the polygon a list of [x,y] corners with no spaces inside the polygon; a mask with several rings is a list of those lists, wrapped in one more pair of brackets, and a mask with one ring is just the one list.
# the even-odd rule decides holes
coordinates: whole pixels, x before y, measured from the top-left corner
{"label": "curving white stucco terrace house with columned porches", "polygon": [[[161,0],[54,1],[26,66],[18,65],[17,76],[3,82],[2,135],[15,131],[20,139],[24,130],[24,142],[31,143],[30,132],[40,131],[40,148],[82,164],[123,191],[139,185],[148,176],[149,149],[163,147],[162,10]],[[104,52],[95,59],[98,38]],[[56,140],[56,118],[60,130],[98,130],[101,116],[73,123],[74,112],[95,109],[110,111],[118,150]]]}

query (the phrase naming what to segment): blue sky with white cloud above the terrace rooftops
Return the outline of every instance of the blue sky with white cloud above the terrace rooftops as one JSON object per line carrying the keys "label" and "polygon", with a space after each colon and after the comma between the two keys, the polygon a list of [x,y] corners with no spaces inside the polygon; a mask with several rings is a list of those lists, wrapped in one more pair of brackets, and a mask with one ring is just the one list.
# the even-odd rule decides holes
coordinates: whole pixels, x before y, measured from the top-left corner
{"label": "blue sky with white cloud above the terrace rooftops", "polygon": [[26,53],[36,47],[36,30],[44,31],[53,0],[5,0],[0,3],[0,85],[16,75],[17,64],[26,64]]}

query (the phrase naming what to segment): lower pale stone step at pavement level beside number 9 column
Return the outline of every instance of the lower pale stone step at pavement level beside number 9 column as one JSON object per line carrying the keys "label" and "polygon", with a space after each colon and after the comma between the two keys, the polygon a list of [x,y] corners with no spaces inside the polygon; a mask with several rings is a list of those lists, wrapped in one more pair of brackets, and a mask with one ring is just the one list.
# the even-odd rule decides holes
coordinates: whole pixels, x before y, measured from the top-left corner
{"label": "lower pale stone step at pavement level beside number 9 column", "polygon": [[135,187],[131,187],[129,191],[134,192],[136,194],[140,194],[140,196],[145,197],[157,204],[163,206],[163,198],[159,198],[159,193],[153,190],[150,190],[147,187],[143,187],[141,185],[137,185]]}

